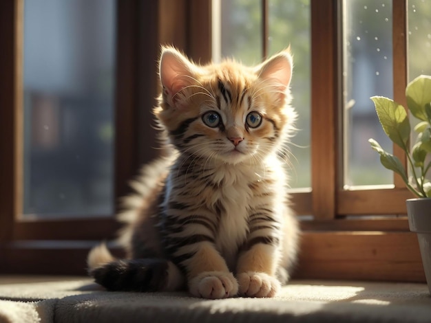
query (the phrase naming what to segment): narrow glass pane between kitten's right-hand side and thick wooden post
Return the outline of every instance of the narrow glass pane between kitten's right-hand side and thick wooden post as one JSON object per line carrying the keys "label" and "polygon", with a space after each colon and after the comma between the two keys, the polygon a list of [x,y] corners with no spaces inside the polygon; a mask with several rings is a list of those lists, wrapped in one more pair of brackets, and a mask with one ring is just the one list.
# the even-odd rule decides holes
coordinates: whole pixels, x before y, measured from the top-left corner
{"label": "narrow glass pane between kitten's right-hand side and thick wooden post", "polygon": [[292,155],[291,186],[311,186],[311,21],[310,1],[269,0],[269,55],[291,45],[295,65],[291,91],[298,113],[297,134],[288,145]]}

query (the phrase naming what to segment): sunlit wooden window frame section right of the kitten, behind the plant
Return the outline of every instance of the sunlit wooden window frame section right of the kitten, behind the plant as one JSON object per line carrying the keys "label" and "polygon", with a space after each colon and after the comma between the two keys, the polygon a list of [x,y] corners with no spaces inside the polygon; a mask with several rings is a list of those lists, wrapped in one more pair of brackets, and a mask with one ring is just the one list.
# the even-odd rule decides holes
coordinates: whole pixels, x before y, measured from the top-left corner
{"label": "sunlit wooden window frame section right of the kitten, behind the plant", "polygon": [[[388,189],[348,190],[342,185],[341,4],[311,0],[313,221],[302,222],[296,276],[424,282],[417,237],[409,232],[406,216],[370,217],[406,214],[405,201],[412,194],[399,176]],[[400,103],[405,102],[407,34],[407,0],[393,0],[394,96]],[[396,146],[394,153],[406,164]]]}

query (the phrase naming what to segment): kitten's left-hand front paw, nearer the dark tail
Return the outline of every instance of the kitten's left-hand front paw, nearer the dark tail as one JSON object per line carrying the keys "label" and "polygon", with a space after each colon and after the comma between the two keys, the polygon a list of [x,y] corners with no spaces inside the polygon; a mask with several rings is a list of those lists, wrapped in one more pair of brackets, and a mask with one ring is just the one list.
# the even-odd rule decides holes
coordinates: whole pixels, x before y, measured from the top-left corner
{"label": "kitten's left-hand front paw, nearer the dark tail", "polygon": [[238,293],[238,282],[231,273],[206,271],[190,280],[189,290],[196,297],[228,298]]}

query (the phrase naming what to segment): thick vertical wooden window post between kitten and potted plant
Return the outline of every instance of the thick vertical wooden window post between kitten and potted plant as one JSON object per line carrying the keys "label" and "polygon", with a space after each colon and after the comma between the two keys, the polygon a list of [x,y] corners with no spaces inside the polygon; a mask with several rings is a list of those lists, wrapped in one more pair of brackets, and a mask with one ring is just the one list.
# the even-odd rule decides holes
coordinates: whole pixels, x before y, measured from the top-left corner
{"label": "thick vertical wooden window post between kitten and potted plant", "polygon": [[313,215],[335,216],[337,191],[337,1],[311,1],[311,157]]}

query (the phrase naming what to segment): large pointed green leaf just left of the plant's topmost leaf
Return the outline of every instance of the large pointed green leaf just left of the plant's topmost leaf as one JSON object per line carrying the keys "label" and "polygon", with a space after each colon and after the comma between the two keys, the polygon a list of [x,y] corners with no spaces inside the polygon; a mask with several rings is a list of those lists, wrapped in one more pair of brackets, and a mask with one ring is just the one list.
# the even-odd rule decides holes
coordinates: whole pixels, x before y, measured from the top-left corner
{"label": "large pointed green leaf just left of the plant's topmost leaf", "polygon": [[373,96],[371,98],[376,107],[377,116],[386,135],[403,149],[407,147],[410,137],[410,122],[406,109],[394,100]]}

